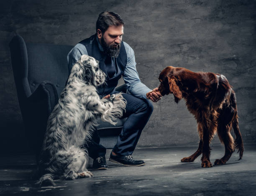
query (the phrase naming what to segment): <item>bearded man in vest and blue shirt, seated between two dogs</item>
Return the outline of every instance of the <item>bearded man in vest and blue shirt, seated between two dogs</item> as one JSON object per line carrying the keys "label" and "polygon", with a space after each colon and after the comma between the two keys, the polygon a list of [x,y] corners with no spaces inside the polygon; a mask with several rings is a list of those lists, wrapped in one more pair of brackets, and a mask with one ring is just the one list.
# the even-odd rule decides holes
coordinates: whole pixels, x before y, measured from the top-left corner
{"label": "bearded man in vest and blue shirt, seated between two dogs", "polygon": [[[142,84],[136,71],[133,49],[124,41],[124,20],[113,12],[102,12],[96,23],[96,34],[84,39],[72,48],[67,56],[69,73],[80,56],[87,54],[97,59],[100,69],[107,75],[105,84],[97,87],[101,98],[110,97],[115,93],[118,80],[123,76],[130,94],[123,94],[127,101],[123,117],[128,117],[118,136],[117,143],[110,154],[110,161],[126,166],[141,166],[143,160],[134,160],[131,155],[138,143],[143,128],[153,112],[152,103],[147,100],[146,93],[151,89]],[[151,93],[151,101],[157,102],[161,94],[157,88]],[[92,141],[87,144],[89,156],[94,159],[94,169],[107,169],[105,159],[106,148],[100,145],[97,130],[92,135]]]}

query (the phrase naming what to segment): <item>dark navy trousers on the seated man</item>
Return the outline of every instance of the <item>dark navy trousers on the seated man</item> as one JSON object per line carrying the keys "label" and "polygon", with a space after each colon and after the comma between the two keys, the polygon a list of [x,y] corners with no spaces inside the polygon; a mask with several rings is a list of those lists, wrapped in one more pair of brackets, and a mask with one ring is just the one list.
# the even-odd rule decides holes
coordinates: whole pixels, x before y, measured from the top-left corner
{"label": "dark navy trousers on the seated man", "polygon": [[[131,94],[124,93],[122,95],[127,101],[123,117],[128,118],[118,136],[113,152],[118,155],[131,155],[138,143],[143,128],[153,112],[153,105],[149,100],[139,99]],[[106,148],[100,145],[100,136],[97,130],[93,132],[92,140],[87,142],[85,147],[88,150],[89,156],[93,159],[106,154]]]}

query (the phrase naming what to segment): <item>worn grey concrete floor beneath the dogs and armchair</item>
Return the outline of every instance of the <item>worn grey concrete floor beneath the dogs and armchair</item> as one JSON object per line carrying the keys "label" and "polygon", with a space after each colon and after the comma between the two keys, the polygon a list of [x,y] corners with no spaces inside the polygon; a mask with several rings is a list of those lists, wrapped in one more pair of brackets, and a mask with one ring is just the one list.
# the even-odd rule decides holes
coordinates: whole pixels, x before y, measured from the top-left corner
{"label": "worn grey concrete floor beneath the dogs and armchair", "polygon": [[[211,162],[221,158],[222,146],[212,146]],[[141,167],[125,167],[108,161],[108,170],[92,171],[94,177],[56,181],[57,186],[38,187],[31,180],[36,165],[31,155],[1,156],[0,195],[256,195],[256,146],[246,145],[243,159],[233,153],[226,165],[201,168],[180,159],[197,147],[141,148],[133,158],[145,160]],[[107,151],[109,157],[110,150]]]}

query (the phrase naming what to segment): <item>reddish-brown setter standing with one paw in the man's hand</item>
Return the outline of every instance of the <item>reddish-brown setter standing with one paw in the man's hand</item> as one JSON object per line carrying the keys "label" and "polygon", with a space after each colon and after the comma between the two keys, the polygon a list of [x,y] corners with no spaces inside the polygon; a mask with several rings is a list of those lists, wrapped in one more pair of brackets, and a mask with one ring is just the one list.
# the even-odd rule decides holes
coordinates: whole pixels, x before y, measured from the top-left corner
{"label": "reddish-brown setter standing with one paw in the man's hand", "polygon": [[[215,165],[225,164],[235,148],[243,156],[243,140],[238,127],[236,95],[228,80],[221,74],[192,72],[182,67],[168,66],[159,75],[158,89],[162,96],[172,93],[176,103],[185,99],[189,112],[195,115],[200,143],[197,151],[182,162],[193,162],[202,154],[202,167],[212,167],[210,142],[218,133],[225,145],[225,155],[215,160]],[[150,97],[150,92],[147,94]],[[234,141],[230,131],[236,135]],[[239,160],[240,160],[239,159]]]}

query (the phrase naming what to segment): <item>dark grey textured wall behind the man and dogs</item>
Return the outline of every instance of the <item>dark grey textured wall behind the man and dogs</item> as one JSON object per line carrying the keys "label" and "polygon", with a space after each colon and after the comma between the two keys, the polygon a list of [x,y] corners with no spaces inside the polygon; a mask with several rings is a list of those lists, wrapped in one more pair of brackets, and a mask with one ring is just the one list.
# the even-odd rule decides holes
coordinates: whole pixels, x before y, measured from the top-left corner
{"label": "dark grey textured wall behind the man and dogs", "polygon": [[[224,74],[233,85],[245,143],[256,142],[256,2],[253,0],[9,0],[0,3],[1,150],[25,149],[8,43],[74,45],[95,33],[104,10],[126,21],[141,81],[159,85],[166,66]],[[138,146],[197,145],[194,117],[172,95],[154,104]],[[219,143],[217,139],[213,143]]]}

